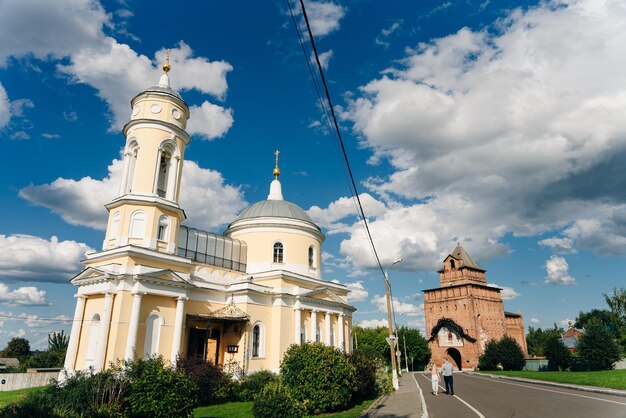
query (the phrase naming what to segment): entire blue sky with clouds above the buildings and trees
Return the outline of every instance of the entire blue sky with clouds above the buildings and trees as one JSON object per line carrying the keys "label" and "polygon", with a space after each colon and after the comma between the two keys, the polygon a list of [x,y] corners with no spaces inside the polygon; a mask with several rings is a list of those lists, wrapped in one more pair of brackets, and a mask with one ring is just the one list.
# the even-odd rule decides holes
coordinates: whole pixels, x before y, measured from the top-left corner
{"label": "entire blue sky with clouds above the buildings and trees", "polygon": [[[307,5],[374,241],[383,264],[404,258],[398,322],[423,328],[421,290],[457,242],[526,326],[603,308],[626,267],[626,5]],[[285,198],[327,236],[324,278],[353,289],[355,322],[384,323],[285,1],[5,0],[0,46],[0,348],[69,330],[68,280],[101,247],[129,101],[167,48],[192,108],[186,224],[221,232],[264,199],[280,149]]]}

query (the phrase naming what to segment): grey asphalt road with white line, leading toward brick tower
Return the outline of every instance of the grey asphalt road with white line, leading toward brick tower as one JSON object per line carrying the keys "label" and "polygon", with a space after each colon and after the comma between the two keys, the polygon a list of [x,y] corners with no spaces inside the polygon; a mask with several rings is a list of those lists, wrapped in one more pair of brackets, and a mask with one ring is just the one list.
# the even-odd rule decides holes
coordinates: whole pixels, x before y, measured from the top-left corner
{"label": "grey asphalt road with white line, leading toward brick tower", "polygon": [[559,387],[454,375],[454,396],[431,391],[430,378],[415,373],[430,418],[626,418],[626,397]]}

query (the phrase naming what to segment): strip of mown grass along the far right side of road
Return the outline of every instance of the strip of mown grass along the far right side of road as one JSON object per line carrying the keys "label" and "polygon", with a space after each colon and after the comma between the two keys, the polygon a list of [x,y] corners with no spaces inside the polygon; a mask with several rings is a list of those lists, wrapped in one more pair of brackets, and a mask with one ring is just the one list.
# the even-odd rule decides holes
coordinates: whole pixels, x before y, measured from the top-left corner
{"label": "strip of mown grass along the far right side of road", "polygon": [[573,385],[599,386],[626,390],[626,370],[602,370],[598,372],[485,372],[493,375],[523,377]]}

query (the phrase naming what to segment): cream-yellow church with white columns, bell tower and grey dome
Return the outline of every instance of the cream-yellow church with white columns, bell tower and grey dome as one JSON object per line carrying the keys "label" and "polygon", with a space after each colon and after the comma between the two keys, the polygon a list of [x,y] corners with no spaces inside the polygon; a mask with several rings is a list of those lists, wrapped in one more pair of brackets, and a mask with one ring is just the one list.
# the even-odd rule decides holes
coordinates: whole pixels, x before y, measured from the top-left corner
{"label": "cream-yellow church with white columns, bell tower and grey dome", "polygon": [[65,370],[161,355],[245,374],[278,371],[287,348],[304,341],[350,352],[355,308],[346,286],[322,279],[324,234],[284,200],[278,151],[267,199],[223,234],[182,224],[189,108],[170,87],[169,59],[163,70],[131,101],[102,251],[71,279],[77,294]]}

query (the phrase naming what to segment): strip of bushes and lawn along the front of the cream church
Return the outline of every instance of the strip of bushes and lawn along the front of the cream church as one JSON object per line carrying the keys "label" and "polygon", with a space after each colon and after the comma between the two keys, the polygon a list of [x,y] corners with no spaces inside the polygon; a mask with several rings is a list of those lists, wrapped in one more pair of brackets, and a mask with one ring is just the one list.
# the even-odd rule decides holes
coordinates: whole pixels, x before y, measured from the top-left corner
{"label": "strip of bushes and lawn along the front of the cream church", "polygon": [[171,367],[161,357],[79,372],[62,384],[7,393],[0,418],[348,418],[390,389],[376,355],[307,343],[287,350],[279,375],[259,371],[236,380],[212,363],[180,359]]}

